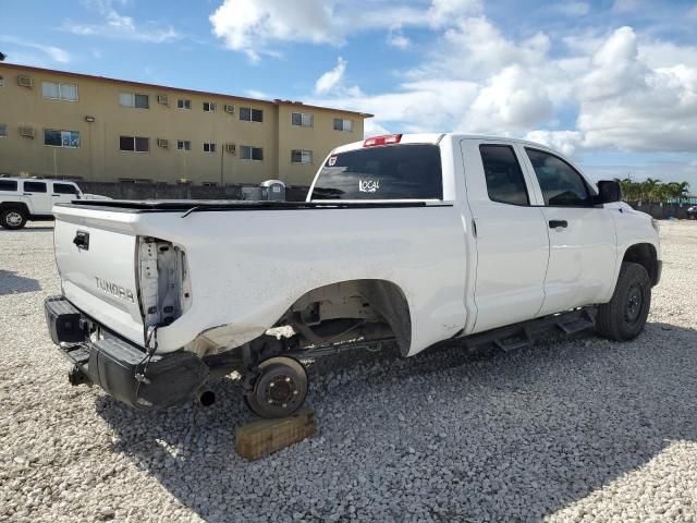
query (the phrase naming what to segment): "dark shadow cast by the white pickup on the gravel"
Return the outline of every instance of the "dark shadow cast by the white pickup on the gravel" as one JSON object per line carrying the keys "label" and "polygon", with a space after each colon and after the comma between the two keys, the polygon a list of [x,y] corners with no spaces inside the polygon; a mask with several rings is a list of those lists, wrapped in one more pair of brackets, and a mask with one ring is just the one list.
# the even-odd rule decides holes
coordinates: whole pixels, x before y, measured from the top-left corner
{"label": "dark shadow cast by the white pickup on the gravel", "polygon": [[629,343],[342,356],[310,366],[318,434],[256,462],[234,451],[250,415],[230,379],[209,409],[96,409],[113,452],[209,521],[538,521],[697,441],[696,348],[697,331],[649,324]]}

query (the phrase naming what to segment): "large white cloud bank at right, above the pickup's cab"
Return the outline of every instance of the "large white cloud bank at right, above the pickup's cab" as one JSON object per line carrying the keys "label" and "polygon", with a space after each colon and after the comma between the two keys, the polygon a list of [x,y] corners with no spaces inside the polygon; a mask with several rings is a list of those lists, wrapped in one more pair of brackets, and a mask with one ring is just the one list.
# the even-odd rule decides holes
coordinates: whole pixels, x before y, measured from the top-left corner
{"label": "large white cloud bank at right, above the pickup's cab", "polygon": [[[371,125],[391,131],[526,136],[565,154],[695,151],[690,47],[641,42],[631,27],[577,35],[566,45],[565,56],[552,57],[545,34],[516,41],[484,16],[463,19],[395,89],[331,92],[314,102],[375,113]],[[577,112],[575,125],[559,129],[562,109]]]}

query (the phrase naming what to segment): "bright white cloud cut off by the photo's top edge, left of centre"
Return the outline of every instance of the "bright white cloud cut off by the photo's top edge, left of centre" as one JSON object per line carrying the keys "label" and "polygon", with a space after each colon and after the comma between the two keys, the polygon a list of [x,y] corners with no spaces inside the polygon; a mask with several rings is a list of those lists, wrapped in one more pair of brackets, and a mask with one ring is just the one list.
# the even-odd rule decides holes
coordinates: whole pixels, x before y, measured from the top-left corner
{"label": "bright white cloud cut off by the photo's top edge, left of centre", "polygon": [[223,0],[209,20],[212,33],[229,49],[253,60],[277,54],[282,42],[343,45],[351,35],[389,31],[388,42],[404,48],[405,27],[449,26],[481,12],[480,0],[431,0],[405,5],[390,0],[368,4],[350,0]]}

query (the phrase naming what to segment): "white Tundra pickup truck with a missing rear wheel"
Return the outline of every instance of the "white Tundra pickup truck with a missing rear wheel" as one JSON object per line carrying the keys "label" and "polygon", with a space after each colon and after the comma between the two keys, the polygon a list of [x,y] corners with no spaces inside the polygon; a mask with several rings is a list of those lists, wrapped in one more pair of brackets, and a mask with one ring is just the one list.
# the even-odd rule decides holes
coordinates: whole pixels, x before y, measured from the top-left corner
{"label": "white Tundra pickup truck with a missing rear wheel", "polygon": [[48,327],[73,385],[206,404],[236,370],[267,417],[305,400],[301,360],[343,349],[631,340],[661,260],[656,221],[619,200],[538,144],[414,134],[334,149],[306,202],[60,204]]}

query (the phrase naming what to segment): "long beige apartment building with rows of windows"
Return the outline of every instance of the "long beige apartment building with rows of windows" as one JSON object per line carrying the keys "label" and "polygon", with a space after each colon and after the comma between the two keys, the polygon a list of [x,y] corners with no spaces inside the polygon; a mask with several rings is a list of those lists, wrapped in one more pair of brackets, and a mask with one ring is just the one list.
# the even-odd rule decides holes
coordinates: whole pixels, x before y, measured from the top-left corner
{"label": "long beige apartment building with rows of windows", "polygon": [[371,114],[0,64],[0,174],[308,185]]}

